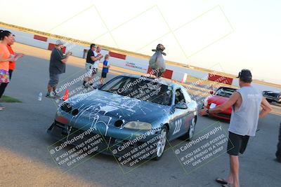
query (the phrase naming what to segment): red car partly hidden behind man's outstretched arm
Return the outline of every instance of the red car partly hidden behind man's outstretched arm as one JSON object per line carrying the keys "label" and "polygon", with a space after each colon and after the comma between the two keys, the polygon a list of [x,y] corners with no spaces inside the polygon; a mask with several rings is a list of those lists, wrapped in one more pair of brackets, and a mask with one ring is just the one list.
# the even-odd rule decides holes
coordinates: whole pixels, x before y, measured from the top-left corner
{"label": "red car partly hidden behind man's outstretched arm", "polygon": [[[215,106],[221,105],[228,101],[229,97],[233,95],[233,92],[237,90],[236,88],[230,88],[230,87],[220,87],[216,90],[214,93],[213,91],[210,91],[211,97],[207,97],[204,100],[203,107],[206,107],[207,109],[213,109]],[[223,111],[221,113],[214,113],[210,114],[209,116],[213,116],[215,118],[221,118],[223,120],[230,120],[232,109],[231,107],[227,109],[226,111]]]}

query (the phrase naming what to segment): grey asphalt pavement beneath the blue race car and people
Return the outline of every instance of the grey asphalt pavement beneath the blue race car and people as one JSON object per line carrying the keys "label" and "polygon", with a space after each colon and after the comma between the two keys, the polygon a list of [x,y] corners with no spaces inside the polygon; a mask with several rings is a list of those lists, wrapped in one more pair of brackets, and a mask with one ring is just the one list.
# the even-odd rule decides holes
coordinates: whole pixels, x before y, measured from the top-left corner
{"label": "grey asphalt pavement beneath the blue race car and people", "polygon": [[[67,64],[60,85],[82,74],[84,69]],[[107,80],[114,76],[109,74]],[[0,111],[0,186],[219,186],[214,179],[228,174],[227,153],[187,174],[171,148],[161,160],[145,162],[127,174],[115,158],[101,154],[63,171],[47,149],[55,142],[46,129],[53,123],[58,104],[46,97],[38,100],[39,92],[46,94],[47,83],[48,60],[25,56],[18,61],[5,95],[22,103],[4,103],[6,109]],[[79,85],[81,81],[70,90]],[[280,120],[280,116],[270,114],[259,121],[256,137],[249,140],[247,151],[240,157],[241,186],[280,186],[281,164],[274,160]],[[216,122],[200,117],[195,134]],[[228,128],[228,122],[220,123]],[[183,144],[181,139],[169,143]]]}

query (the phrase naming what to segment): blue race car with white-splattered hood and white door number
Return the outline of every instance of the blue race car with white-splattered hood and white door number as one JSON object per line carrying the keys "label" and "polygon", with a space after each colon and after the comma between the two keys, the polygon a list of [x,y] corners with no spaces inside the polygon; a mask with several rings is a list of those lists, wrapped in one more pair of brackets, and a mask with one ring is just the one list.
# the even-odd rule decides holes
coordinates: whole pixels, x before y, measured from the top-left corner
{"label": "blue race car with white-splattered hood and white door number", "polygon": [[158,160],[166,140],[192,139],[196,122],[197,102],[182,85],[164,78],[124,74],[63,102],[47,132],[55,139],[79,145],[84,137],[70,139],[91,129],[87,139],[96,134],[103,137],[99,153],[118,158],[124,155],[124,147],[126,153],[128,149],[140,152],[141,145],[148,146],[153,140],[155,151],[150,151],[149,158]]}

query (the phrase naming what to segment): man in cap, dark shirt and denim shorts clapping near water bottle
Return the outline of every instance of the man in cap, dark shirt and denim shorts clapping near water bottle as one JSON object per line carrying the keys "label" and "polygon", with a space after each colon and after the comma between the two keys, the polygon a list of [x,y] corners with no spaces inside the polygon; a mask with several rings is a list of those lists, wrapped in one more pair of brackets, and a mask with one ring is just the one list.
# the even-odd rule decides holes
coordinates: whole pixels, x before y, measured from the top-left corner
{"label": "man in cap, dark shirt and denim shorts clapping near water bottle", "polygon": [[55,43],[55,48],[53,48],[50,59],[50,81],[48,81],[48,93],[46,97],[56,98],[59,97],[56,95],[55,89],[58,85],[60,74],[65,73],[65,63],[68,60],[68,57],[72,54],[71,52],[67,52],[67,54],[63,54],[61,51],[64,48],[62,41],[57,41]]}

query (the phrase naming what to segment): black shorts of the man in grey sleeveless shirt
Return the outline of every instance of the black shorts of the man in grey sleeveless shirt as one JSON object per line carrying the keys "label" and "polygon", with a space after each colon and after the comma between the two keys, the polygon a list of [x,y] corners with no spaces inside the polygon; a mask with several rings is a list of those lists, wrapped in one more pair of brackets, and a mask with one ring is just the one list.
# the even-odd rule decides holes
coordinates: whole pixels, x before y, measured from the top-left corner
{"label": "black shorts of the man in grey sleeveless shirt", "polygon": [[230,155],[239,155],[243,154],[246,150],[247,144],[249,141],[249,136],[239,135],[233,132],[229,132],[228,136],[228,154]]}

